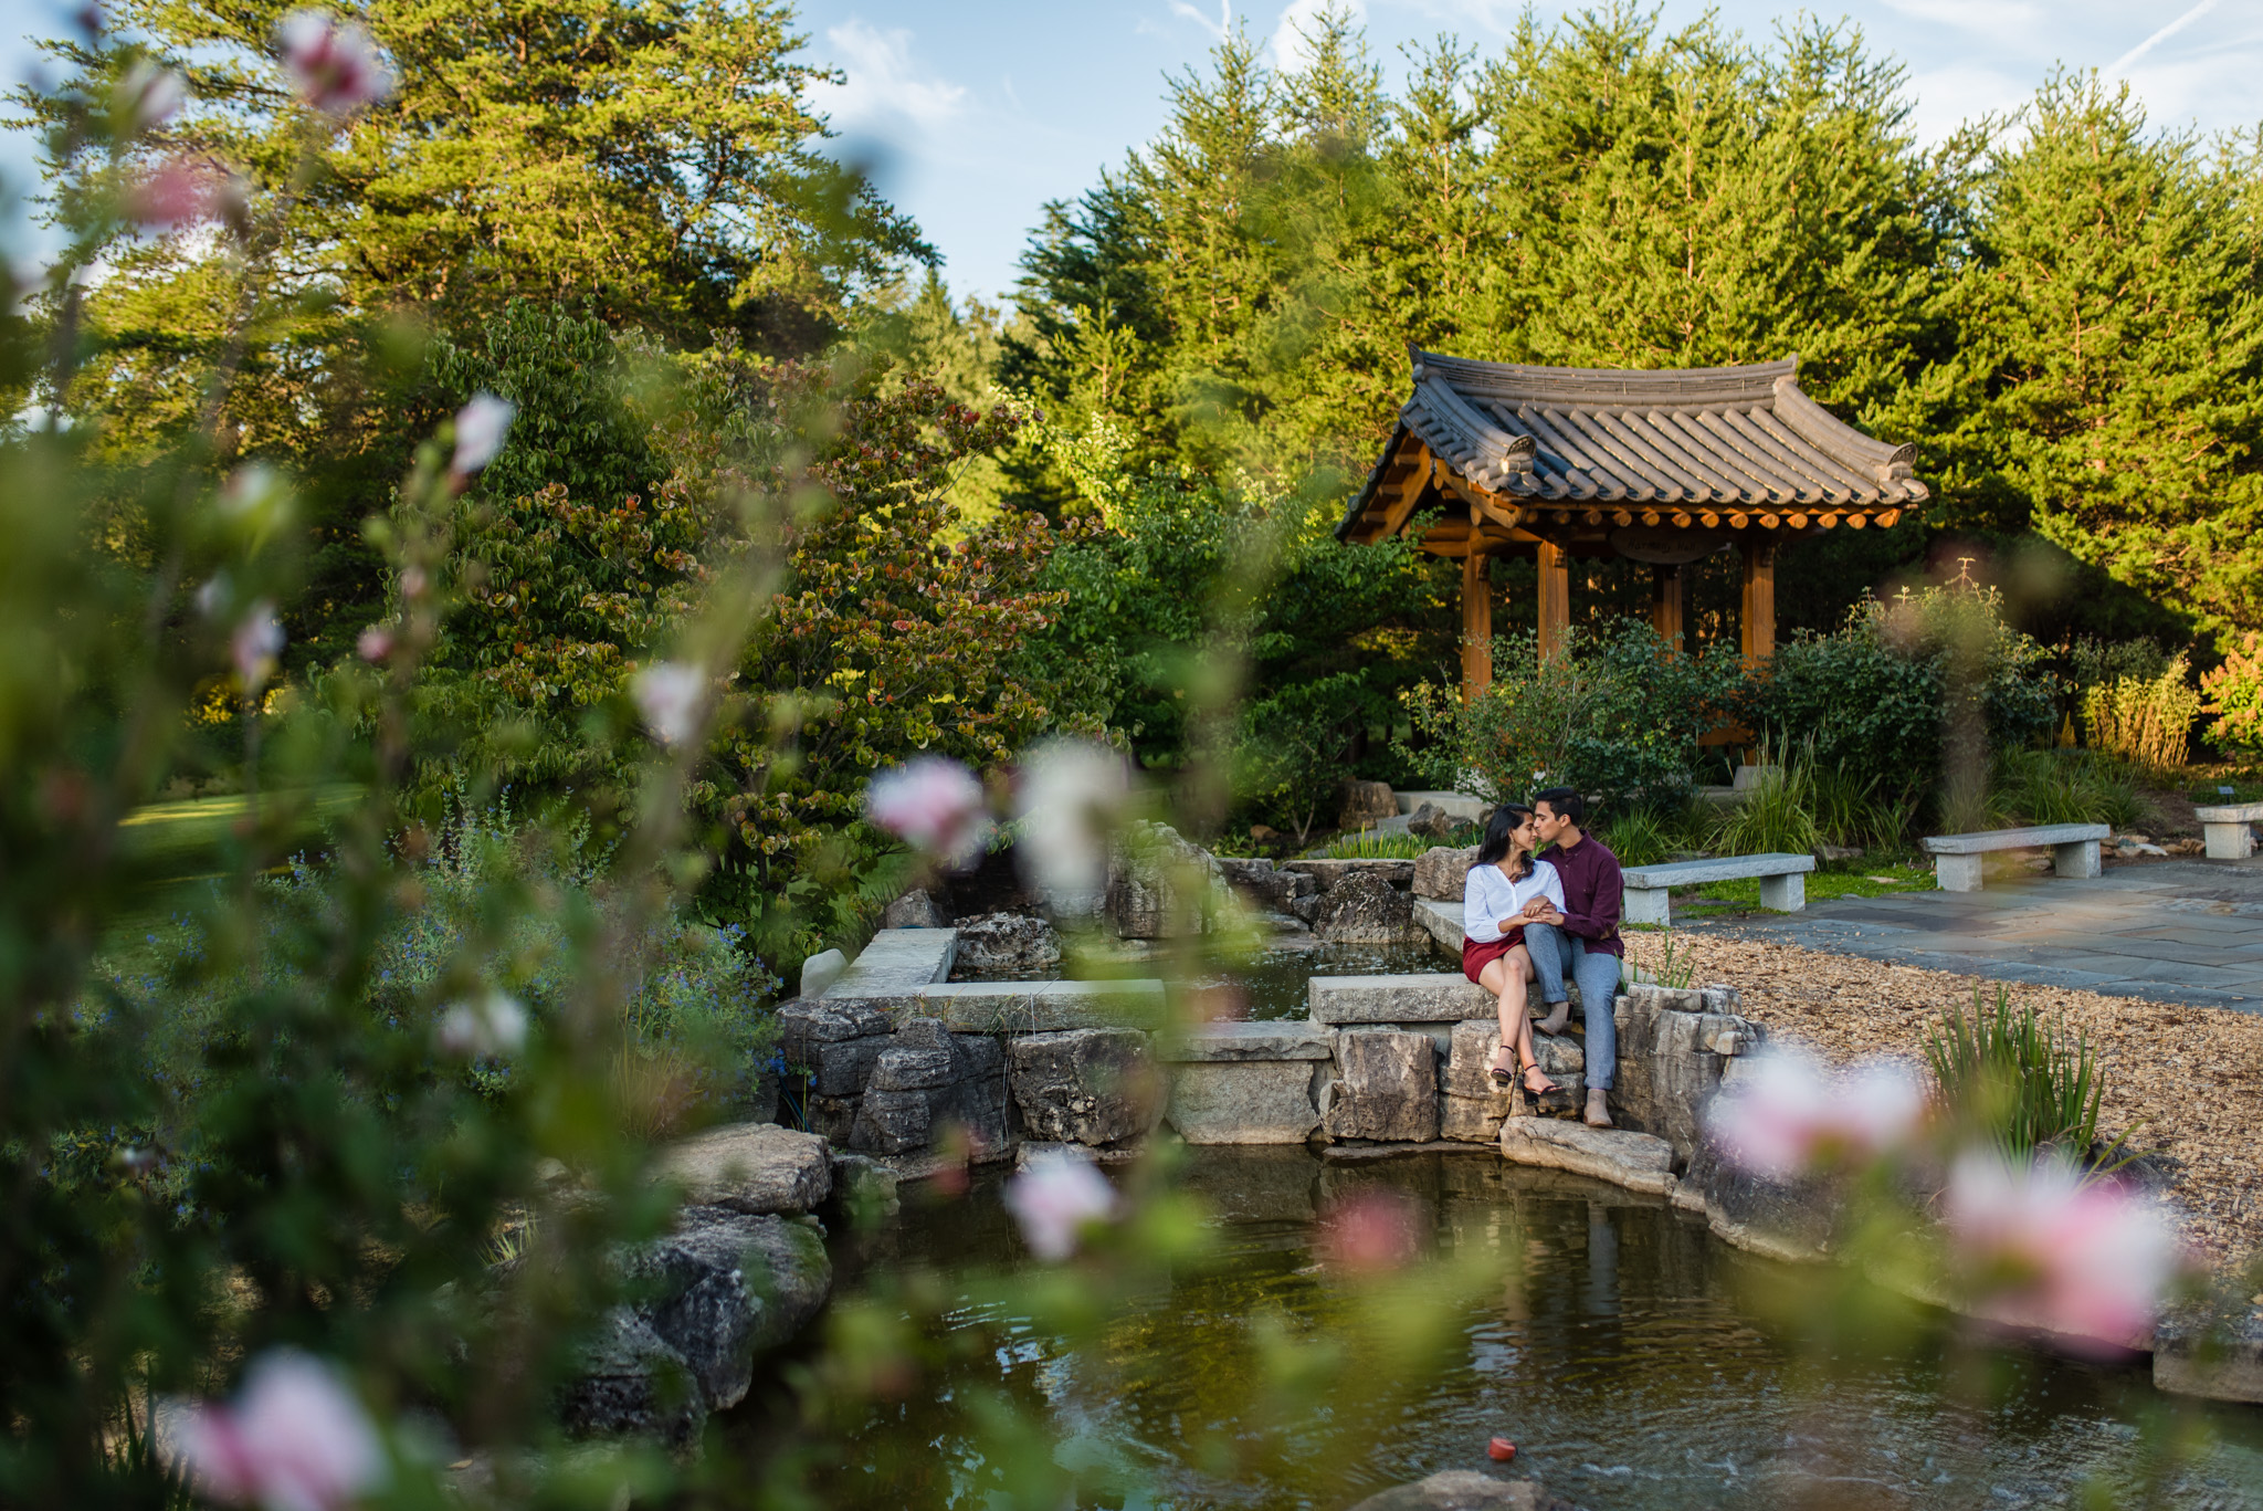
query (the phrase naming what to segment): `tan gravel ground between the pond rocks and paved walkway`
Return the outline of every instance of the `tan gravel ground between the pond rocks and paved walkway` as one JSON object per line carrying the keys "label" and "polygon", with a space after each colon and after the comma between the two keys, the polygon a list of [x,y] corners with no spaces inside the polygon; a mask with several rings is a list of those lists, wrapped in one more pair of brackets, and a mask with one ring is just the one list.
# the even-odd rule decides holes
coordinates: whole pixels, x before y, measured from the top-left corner
{"label": "tan gravel ground between the pond rocks and paved walkway", "polygon": [[[1652,936],[1654,938],[1654,936]],[[1826,1060],[1899,1056],[1924,1072],[1924,1035],[1948,1008],[1994,1004],[1996,983],[1774,945],[1731,931],[1675,931],[1697,983],[1727,981],[1745,1013]],[[1657,956],[1643,940],[1636,954]],[[2107,1072],[2100,1126],[2168,1158],[2186,1241],[2215,1269],[2263,1250],[2263,1015],[2012,985],[2086,1033]]]}

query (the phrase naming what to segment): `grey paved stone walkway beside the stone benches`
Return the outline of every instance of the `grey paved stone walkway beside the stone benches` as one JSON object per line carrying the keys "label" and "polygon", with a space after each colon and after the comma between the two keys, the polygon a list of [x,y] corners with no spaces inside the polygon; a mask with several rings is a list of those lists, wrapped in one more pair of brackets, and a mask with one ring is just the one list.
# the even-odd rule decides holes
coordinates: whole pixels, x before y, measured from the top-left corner
{"label": "grey paved stone walkway beside the stone benches", "polygon": [[2263,856],[2109,865],[2096,881],[1840,897],[1806,913],[1675,920],[1804,949],[2263,1013]]}

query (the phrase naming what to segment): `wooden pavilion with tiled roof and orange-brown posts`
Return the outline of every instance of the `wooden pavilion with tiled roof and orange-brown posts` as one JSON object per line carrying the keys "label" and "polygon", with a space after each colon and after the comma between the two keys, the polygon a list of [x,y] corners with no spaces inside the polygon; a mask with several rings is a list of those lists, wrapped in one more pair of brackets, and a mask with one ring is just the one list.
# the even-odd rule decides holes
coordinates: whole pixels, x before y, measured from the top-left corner
{"label": "wooden pavilion with tiled roof and orange-brown posts", "polygon": [[1776,646],[1776,548],[1817,530],[1890,530],[1928,498],[1890,446],[1799,392],[1799,358],[1752,367],[1518,367],[1408,349],[1414,392],[1337,539],[1417,517],[1462,557],[1462,691],[1494,682],[1487,557],[1539,562],[1539,643],[1571,625],[1571,560],[1650,562],[1652,623],[1681,634],[1681,569],[1736,546],[1743,650]]}

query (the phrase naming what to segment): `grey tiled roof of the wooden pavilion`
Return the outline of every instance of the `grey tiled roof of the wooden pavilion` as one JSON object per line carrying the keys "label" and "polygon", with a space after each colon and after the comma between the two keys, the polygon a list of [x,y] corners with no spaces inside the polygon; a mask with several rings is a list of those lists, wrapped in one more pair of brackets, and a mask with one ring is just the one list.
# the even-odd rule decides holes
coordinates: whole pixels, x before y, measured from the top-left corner
{"label": "grey tiled roof of the wooden pavilion", "polygon": [[1410,351],[1414,392],[1385,464],[1419,439],[1516,503],[1899,512],[1928,498],[1914,446],[1890,446],[1799,392],[1799,360],[1634,372],[1518,367]]}

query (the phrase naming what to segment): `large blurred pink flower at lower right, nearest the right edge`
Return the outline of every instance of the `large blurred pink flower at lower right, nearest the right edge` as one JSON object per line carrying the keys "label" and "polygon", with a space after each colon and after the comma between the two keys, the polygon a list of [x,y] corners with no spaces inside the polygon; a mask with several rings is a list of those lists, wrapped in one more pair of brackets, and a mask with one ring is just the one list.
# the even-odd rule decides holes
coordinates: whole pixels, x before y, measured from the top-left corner
{"label": "large blurred pink flower at lower right, nearest the right edge", "polygon": [[2114,1348],[2143,1341],[2184,1255],[2157,1207],[2059,1158],[2014,1167],[1967,1151],[1942,1198],[1951,1253],[1982,1316]]}

